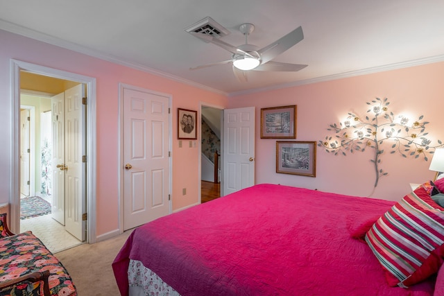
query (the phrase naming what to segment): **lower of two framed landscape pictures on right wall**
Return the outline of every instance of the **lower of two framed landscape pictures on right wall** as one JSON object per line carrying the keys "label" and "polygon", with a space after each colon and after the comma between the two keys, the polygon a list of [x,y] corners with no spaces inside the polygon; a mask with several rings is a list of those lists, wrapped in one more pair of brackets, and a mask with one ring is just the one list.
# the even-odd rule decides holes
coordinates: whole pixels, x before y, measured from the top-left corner
{"label": "lower of two framed landscape pictures on right wall", "polygon": [[316,141],[276,141],[276,173],[316,177]]}

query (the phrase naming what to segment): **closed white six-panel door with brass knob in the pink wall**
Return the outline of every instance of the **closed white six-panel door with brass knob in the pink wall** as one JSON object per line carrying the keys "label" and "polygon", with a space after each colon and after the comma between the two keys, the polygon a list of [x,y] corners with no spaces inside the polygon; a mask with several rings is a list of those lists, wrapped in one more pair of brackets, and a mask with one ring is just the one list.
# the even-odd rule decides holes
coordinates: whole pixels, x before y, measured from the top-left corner
{"label": "closed white six-panel door with brass knob in the pink wall", "polygon": [[123,89],[123,230],[169,214],[169,98]]}

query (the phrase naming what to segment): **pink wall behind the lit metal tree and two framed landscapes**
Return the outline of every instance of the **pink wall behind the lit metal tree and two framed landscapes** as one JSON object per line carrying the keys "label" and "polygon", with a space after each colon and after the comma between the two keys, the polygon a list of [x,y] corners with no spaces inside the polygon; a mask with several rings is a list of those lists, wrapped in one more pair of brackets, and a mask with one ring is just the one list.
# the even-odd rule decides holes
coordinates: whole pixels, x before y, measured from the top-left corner
{"label": "pink wall behind the lit metal tree and two framed landscapes", "polygon": [[[303,70],[302,70],[303,71]],[[316,177],[275,173],[275,139],[260,139],[260,109],[282,105],[297,105],[297,139],[318,141],[327,135],[330,123],[339,123],[348,112],[366,116],[368,105],[375,97],[388,98],[389,110],[395,115],[421,114],[430,123],[429,135],[444,140],[444,62],[374,73],[329,82],[318,82],[229,99],[228,107],[256,106],[256,183],[302,186],[348,195],[399,200],[409,192],[409,183],[420,183],[434,177],[429,162],[422,158],[405,159],[399,154],[384,153],[380,168],[388,172],[374,189],[375,173],[369,159],[374,150],[334,156],[317,147]],[[270,103],[273,98],[273,103]],[[435,142],[436,143],[436,142]],[[386,151],[390,144],[384,143]]]}

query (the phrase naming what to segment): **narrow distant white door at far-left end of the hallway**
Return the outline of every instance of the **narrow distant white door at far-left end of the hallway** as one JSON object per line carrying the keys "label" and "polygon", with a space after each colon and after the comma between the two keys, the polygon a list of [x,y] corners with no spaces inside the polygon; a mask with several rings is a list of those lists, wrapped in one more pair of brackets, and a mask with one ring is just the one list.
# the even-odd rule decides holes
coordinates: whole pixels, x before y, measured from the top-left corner
{"label": "narrow distant white door at far-left end of the hallway", "polygon": [[29,110],[20,110],[20,193],[29,196]]}

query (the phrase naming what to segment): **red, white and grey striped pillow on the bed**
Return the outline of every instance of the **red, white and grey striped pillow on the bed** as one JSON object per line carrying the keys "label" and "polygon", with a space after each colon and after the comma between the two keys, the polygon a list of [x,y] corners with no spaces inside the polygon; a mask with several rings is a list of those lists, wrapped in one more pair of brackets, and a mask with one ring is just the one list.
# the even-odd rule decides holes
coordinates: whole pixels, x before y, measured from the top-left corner
{"label": "red, white and grey striped pillow on the bed", "polygon": [[380,217],[366,242],[390,286],[407,288],[436,273],[444,255],[444,208],[422,186]]}

